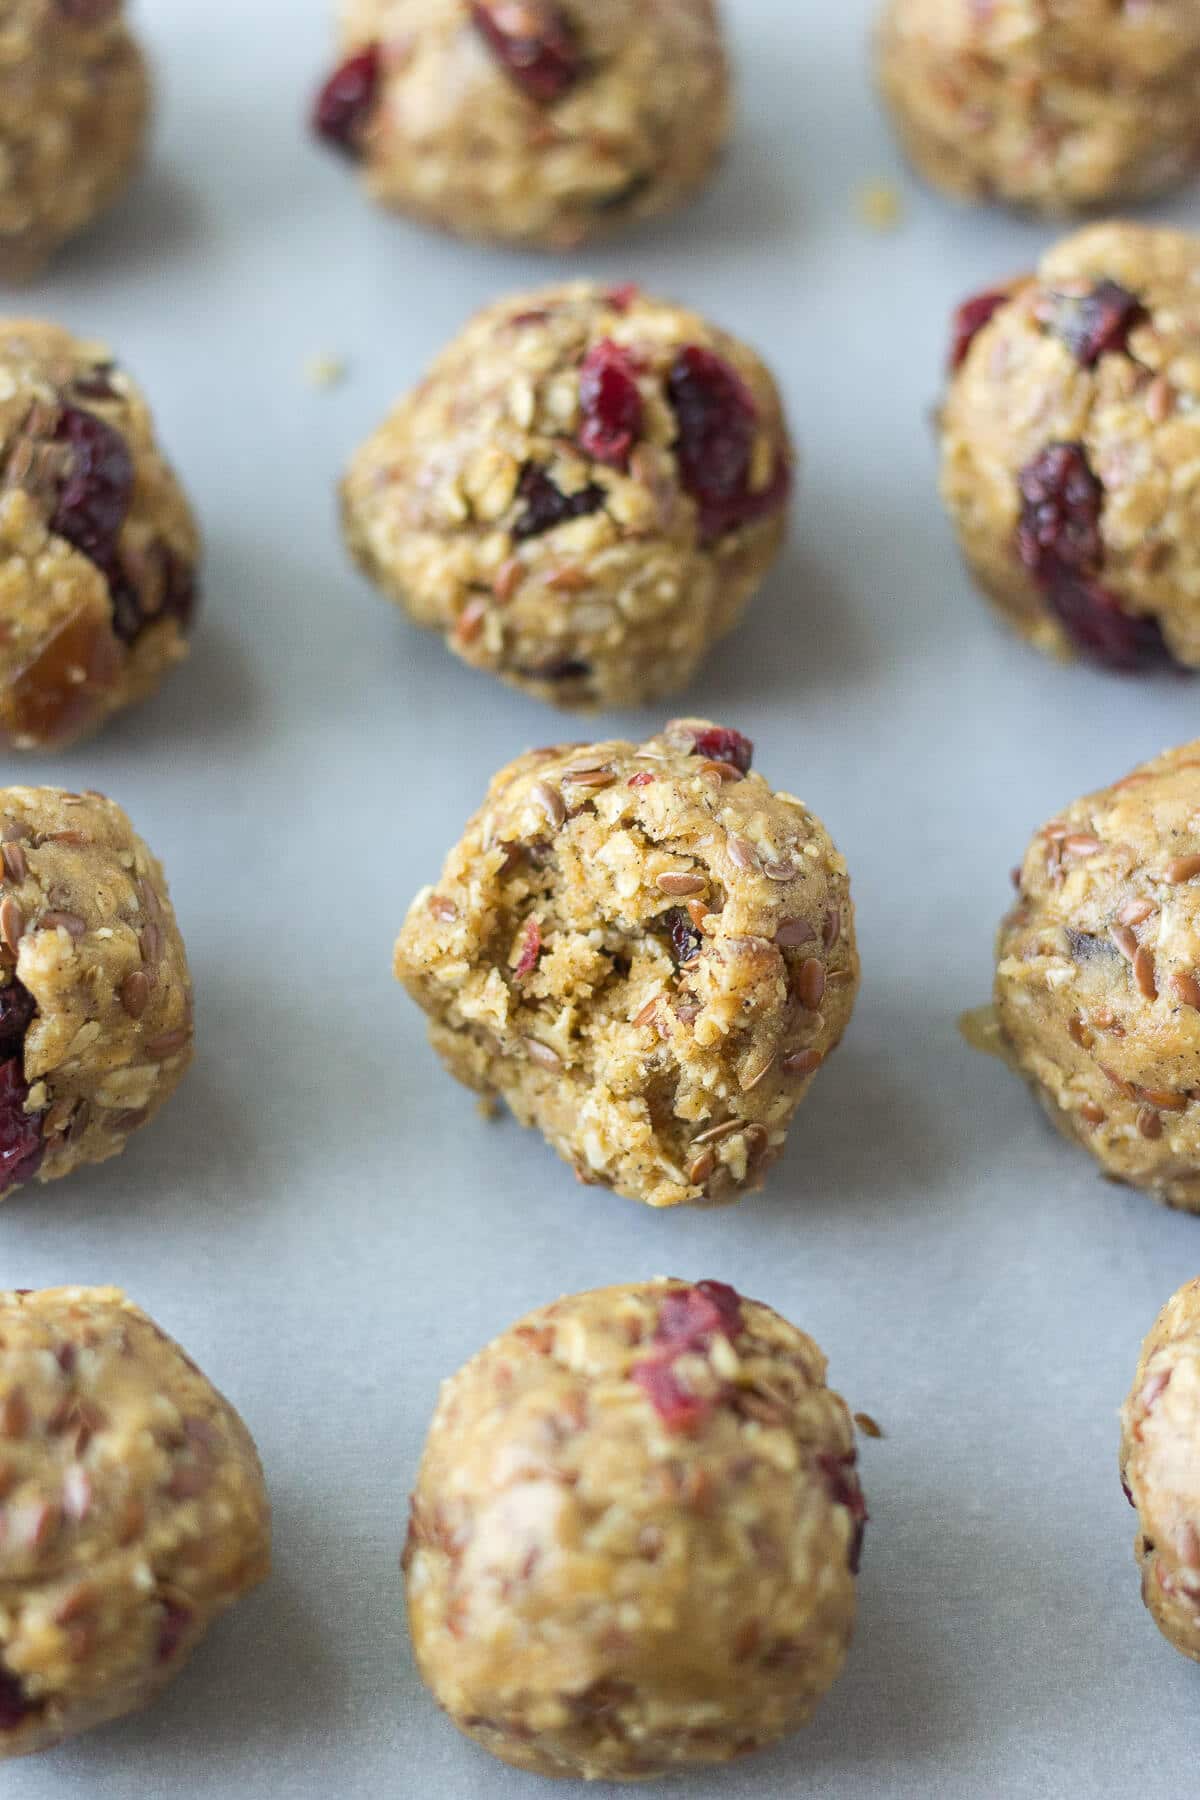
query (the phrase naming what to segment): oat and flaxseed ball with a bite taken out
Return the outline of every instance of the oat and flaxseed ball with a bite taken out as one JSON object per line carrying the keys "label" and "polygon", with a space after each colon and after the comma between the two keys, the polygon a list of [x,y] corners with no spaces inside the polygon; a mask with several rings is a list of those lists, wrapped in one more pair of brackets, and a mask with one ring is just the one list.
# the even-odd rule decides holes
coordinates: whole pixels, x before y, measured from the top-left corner
{"label": "oat and flaxseed ball with a bite taken out", "polygon": [[846,862],[750,754],[684,718],[518,756],[396,943],[450,1073],[648,1206],[757,1188],[855,1004]]}

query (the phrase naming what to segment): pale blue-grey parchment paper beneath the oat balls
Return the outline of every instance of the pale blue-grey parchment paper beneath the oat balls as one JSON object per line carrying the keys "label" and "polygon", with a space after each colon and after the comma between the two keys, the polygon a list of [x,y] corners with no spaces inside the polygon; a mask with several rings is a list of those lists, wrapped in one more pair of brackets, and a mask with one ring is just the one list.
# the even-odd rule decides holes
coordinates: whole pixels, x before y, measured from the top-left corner
{"label": "pale blue-grey parchment paper beneath the oat balls", "polygon": [[[162,855],[200,1057],[128,1154],[0,1215],[0,1285],[117,1282],[250,1422],[277,1573],[155,1710],[4,1800],[522,1800],[408,1656],[398,1553],[437,1382],[527,1307],[720,1276],[826,1348],[885,1427],[846,1676],[799,1739],[689,1800],[1195,1791],[1196,1670],[1142,1613],[1115,1411],[1200,1220],[1105,1184],[955,1031],[1007,871],[1078,792],[1200,729],[1200,689],[1056,668],[993,626],[934,495],[946,315],[1049,232],[898,171],[867,0],[727,0],[741,124],[684,218],[578,265],[371,212],[309,146],[324,0],[146,0],[153,166],[9,304],[112,340],[207,535],[189,666],[5,779],[112,792]],[[855,212],[898,180],[892,234]],[[1159,216],[1200,225],[1193,194]],[[675,709],[747,731],[849,857],[864,988],[768,1190],[653,1215],[486,1125],[390,979],[491,770],[587,734],[464,670],[349,569],[335,479],[446,335],[581,266],[709,311],[779,373],[804,446],[792,544]],[[347,360],[331,391],[311,353]],[[608,716],[644,734],[660,713]],[[596,1789],[594,1789],[596,1791]]]}

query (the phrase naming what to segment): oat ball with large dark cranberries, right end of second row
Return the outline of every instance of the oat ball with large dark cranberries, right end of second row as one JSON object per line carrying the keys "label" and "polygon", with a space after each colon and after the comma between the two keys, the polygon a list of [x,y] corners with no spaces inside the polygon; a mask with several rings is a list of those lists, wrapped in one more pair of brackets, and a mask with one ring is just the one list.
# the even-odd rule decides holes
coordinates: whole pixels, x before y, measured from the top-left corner
{"label": "oat ball with large dark cranberries, right end of second row", "polygon": [[1200,666],[1200,238],[1094,225],[966,301],[941,491],[975,580],[1040,650]]}

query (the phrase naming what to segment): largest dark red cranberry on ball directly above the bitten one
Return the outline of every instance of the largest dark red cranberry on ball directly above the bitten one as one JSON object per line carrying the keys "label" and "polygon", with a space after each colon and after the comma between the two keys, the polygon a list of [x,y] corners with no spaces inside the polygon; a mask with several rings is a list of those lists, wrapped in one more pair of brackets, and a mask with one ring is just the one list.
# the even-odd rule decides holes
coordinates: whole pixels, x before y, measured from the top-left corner
{"label": "largest dark red cranberry on ball directly above the bitten one", "polygon": [[757,407],[723,356],[698,344],[685,346],[671,364],[667,398],[678,427],[675,454],[680,479],[700,508],[700,535],[705,540],[783,506],[792,484],[783,454],[775,455],[766,488],[750,491]]}

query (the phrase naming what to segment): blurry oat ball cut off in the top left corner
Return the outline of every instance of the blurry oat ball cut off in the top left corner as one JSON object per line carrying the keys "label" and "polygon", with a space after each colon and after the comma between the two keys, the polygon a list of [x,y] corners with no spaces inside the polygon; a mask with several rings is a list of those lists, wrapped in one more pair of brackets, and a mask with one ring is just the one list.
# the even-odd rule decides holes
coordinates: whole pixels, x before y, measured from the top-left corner
{"label": "blurry oat ball cut off in the top left corner", "polygon": [[122,0],[7,0],[0,59],[0,279],[25,281],[142,158],[149,77]]}

